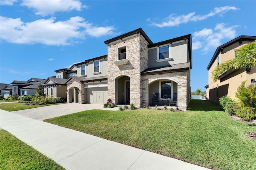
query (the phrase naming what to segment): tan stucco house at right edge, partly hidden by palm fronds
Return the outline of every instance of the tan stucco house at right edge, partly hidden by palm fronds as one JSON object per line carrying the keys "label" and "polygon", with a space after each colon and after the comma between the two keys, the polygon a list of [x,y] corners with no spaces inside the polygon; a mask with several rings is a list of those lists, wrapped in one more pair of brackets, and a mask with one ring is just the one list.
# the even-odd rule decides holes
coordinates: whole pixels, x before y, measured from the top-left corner
{"label": "tan stucco house at right edge, partly hidden by palm fronds", "polygon": [[256,79],[256,67],[254,67],[229,71],[220,75],[216,82],[212,80],[212,71],[218,65],[234,58],[237,49],[255,40],[256,36],[239,36],[230,42],[220,45],[216,49],[207,67],[208,85],[206,85],[205,88],[206,95],[209,100],[219,102],[219,98],[225,95],[231,97],[232,99],[236,99],[235,93],[237,92],[237,88],[239,85],[241,85],[242,81],[247,80],[246,86],[248,86],[251,84],[252,79]]}

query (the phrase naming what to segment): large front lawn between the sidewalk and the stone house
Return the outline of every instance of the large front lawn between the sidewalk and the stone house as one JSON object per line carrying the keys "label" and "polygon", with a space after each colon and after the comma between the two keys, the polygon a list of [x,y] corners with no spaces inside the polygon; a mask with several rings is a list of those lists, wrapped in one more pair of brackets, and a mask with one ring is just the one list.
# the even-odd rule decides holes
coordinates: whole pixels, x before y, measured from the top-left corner
{"label": "large front lawn between the sidewalk and the stone house", "polygon": [[212,169],[256,169],[255,125],[234,121],[211,101],[191,100],[188,111],[90,110],[46,122]]}

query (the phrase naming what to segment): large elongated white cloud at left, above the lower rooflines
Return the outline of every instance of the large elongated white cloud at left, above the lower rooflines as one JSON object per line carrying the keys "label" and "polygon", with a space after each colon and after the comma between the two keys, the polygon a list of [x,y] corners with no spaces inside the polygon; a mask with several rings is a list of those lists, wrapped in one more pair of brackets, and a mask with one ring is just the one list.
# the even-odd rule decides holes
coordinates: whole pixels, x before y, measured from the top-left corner
{"label": "large elongated white cloud at left, above the lower rooflines", "polygon": [[52,17],[24,23],[21,18],[0,16],[1,39],[21,44],[69,45],[84,39],[86,35],[100,37],[111,35],[115,30],[112,26],[93,26],[79,16],[66,21],[55,20],[56,18]]}

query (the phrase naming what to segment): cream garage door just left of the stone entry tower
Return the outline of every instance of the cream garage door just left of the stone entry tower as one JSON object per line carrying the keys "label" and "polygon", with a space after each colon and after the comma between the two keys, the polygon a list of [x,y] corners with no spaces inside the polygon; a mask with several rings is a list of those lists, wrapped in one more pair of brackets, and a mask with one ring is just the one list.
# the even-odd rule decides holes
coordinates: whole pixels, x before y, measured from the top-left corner
{"label": "cream garage door just left of the stone entry tower", "polygon": [[86,89],[86,103],[104,104],[108,100],[108,87],[94,87]]}

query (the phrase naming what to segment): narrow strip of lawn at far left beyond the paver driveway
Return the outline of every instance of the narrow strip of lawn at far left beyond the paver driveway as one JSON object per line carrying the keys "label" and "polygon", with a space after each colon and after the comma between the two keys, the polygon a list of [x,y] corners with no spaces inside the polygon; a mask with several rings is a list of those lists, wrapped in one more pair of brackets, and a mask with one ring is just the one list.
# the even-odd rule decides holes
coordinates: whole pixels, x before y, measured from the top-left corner
{"label": "narrow strip of lawn at far left beyond the paver driveway", "polygon": [[36,107],[59,105],[64,103],[48,104],[48,105],[24,105],[24,104],[25,103],[4,103],[0,105],[0,109],[11,112],[11,111],[24,110],[24,109],[31,109]]}

